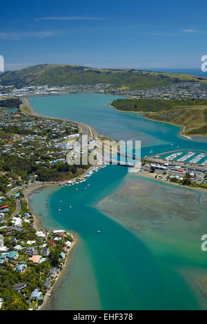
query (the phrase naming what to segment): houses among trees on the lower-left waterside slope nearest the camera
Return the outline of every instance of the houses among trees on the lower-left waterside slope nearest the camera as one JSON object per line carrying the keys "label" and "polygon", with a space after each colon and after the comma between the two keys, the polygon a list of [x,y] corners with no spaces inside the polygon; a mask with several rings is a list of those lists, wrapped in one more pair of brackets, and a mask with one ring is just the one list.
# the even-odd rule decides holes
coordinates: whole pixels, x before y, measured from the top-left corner
{"label": "houses among trees on the lower-left waterside slope nearest the camera", "polygon": [[[13,292],[26,297],[26,309],[28,307],[37,309],[46,292],[59,277],[73,239],[63,230],[44,233],[32,228],[33,239],[28,240],[26,237],[29,228],[25,231],[20,227],[22,230],[20,232],[18,228],[13,227],[11,231],[12,226],[6,225],[1,232],[3,234],[0,236],[0,246],[5,246],[6,251],[0,250],[0,275],[6,278],[6,274],[10,276],[17,274],[13,279],[15,284],[10,288]],[[51,241],[55,242],[55,238],[58,238],[57,244],[51,245]],[[35,289],[31,290],[30,282],[34,283]],[[7,296],[1,295],[1,309],[7,309],[6,307],[9,307]],[[37,303],[33,303],[34,301]]]}

